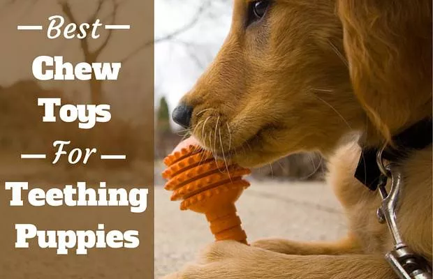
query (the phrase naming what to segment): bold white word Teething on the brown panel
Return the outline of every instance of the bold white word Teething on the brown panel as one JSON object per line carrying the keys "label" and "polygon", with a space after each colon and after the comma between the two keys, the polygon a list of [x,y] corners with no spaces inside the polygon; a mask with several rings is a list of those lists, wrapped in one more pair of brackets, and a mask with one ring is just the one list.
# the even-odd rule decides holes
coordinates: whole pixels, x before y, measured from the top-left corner
{"label": "bold white word Teething on the brown panel", "polygon": [[77,186],[66,185],[64,188],[29,190],[28,182],[6,182],[6,190],[12,191],[10,206],[23,206],[22,192],[27,190],[27,201],[32,206],[130,206],[133,213],[142,213],[147,209],[148,189],[145,188],[106,188],[105,182],[99,188],[87,188],[85,182]]}

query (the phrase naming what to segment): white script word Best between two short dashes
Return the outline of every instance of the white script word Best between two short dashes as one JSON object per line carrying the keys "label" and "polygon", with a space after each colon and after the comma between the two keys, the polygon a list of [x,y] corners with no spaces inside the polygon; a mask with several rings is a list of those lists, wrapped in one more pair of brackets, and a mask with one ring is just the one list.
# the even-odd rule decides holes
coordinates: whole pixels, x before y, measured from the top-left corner
{"label": "white script word Best between two short dashes", "polygon": [[61,31],[61,27],[65,24],[64,17],[61,15],[52,15],[51,17],[48,17],[48,20],[50,20],[50,25],[47,30],[47,37],[50,39],[59,38],[61,33],[63,33],[63,36],[66,39],[73,39],[75,36],[79,39],[84,39],[87,37],[87,32],[89,31],[91,31],[91,38],[93,39],[97,39],[101,36],[97,33],[98,27],[102,26],[100,20],[95,20],[92,24],[69,23],[66,24],[63,32]]}

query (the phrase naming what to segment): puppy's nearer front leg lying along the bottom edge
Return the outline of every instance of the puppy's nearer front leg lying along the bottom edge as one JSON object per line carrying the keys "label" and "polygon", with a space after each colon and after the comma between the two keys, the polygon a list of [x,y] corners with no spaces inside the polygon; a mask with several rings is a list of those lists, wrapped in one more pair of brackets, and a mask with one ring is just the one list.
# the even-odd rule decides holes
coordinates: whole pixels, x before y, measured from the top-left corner
{"label": "puppy's nearer front leg lying along the bottom edge", "polygon": [[383,255],[284,255],[235,241],[212,243],[167,279],[397,279]]}

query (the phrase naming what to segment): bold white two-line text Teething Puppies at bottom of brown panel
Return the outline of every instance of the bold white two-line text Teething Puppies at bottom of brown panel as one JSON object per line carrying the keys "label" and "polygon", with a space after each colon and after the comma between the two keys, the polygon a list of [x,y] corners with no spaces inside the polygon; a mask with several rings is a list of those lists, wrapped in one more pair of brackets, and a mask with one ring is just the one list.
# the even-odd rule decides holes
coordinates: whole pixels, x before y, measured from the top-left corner
{"label": "bold white two-line text Teething Puppies at bottom of brown panel", "polygon": [[[32,188],[27,182],[6,182],[6,190],[11,191],[10,206],[24,206],[23,197],[31,206],[129,206],[132,213],[142,213],[147,209],[148,189],[106,188],[105,182],[98,188],[87,188],[85,182],[76,187]],[[75,248],[77,255],[87,255],[90,248],[137,248],[140,244],[138,231],[105,232],[105,226],[98,224],[92,230],[39,230],[33,224],[16,224],[17,241],[15,248],[29,248],[29,241],[36,239],[40,248],[57,248],[58,255],[68,254]]]}

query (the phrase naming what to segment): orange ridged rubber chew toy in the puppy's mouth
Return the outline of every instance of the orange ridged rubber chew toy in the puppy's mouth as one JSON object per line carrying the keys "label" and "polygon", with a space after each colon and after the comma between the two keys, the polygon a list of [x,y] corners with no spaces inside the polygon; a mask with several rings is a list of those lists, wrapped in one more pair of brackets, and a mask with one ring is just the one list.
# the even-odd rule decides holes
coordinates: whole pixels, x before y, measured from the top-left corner
{"label": "orange ridged rubber chew toy in the puppy's mouth", "polygon": [[236,215],[235,202],[249,182],[242,179],[249,169],[215,160],[209,151],[188,145],[164,159],[168,167],[163,178],[166,190],[173,190],[172,200],[182,199],[181,210],[204,213],[215,239],[247,243],[247,234]]}

